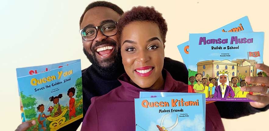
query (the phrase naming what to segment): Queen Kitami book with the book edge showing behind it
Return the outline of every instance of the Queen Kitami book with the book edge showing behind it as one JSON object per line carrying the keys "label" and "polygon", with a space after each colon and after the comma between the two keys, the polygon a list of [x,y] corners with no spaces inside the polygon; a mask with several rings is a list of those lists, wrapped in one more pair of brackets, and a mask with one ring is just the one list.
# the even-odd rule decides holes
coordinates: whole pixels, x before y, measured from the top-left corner
{"label": "Queen Kitami book with the book edge showing behind it", "polygon": [[140,92],[136,131],[204,131],[205,94]]}

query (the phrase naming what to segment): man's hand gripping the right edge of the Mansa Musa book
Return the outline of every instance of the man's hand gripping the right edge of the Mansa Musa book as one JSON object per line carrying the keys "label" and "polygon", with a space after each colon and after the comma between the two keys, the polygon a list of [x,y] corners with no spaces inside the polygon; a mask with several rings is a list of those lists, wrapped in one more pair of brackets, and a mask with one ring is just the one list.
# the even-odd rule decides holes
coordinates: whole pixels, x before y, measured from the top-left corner
{"label": "man's hand gripping the right edge of the Mansa Musa book", "polygon": [[257,83],[257,86],[241,87],[241,90],[247,92],[260,92],[261,94],[258,96],[247,94],[246,97],[255,101],[250,102],[251,106],[255,108],[264,108],[269,104],[269,94],[267,91],[269,88],[269,67],[264,64],[256,64],[256,68],[262,70],[267,76],[246,77],[246,82]]}

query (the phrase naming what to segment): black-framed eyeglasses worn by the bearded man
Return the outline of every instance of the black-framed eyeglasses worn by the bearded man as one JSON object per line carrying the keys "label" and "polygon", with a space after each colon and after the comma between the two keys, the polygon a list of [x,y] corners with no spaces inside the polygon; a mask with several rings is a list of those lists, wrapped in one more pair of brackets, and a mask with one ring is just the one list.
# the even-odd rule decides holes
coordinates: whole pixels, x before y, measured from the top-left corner
{"label": "black-framed eyeglasses worn by the bearded man", "polygon": [[97,36],[97,31],[100,29],[101,33],[105,36],[113,36],[117,34],[118,22],[108,22],[96,27],[87,27],[80,30],[80,34],[85,41],[92,41]]}

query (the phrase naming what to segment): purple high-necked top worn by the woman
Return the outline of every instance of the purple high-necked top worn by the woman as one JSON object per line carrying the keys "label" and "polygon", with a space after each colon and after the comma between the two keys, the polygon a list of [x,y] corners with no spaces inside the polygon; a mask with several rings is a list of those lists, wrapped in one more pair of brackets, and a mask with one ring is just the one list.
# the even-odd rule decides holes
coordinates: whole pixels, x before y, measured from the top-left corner
{"label": "purple high-necked top worn by the woman", "polygon": [[[129,84],[127,74],[119,77],[121,86],[109,93],[91,99],[91,105],[83,119],[82,131],[135,131],[134,98],[139,98],[140,91],[151,92],[187,92],[188,85],[175,81],[170,73],[164,71],[164,90],[140,89]],[[208,115],[210,114],[210,115]],[[158,128],[156,127],[156,130]],[[206,106],[206,130],[224,130],[221,117],[214,103]]]}

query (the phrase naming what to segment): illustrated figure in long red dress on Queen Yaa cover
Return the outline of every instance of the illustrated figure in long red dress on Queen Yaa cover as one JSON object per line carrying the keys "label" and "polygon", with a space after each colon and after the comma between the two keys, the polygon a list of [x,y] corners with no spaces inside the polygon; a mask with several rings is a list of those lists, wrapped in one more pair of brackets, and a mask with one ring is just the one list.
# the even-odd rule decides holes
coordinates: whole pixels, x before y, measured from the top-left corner
{"label": "illustrated figure in long red dress on Queen Yaa cover", "polygon": [[69,96],[69,120],[71,117],[76,117],[76,108],[75,108],[75,99],[72,97],[75,95],[76,89],[74,87],[71,87],[67,91],[67,96]]}

